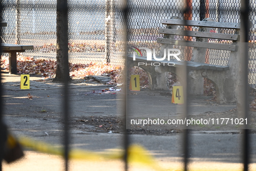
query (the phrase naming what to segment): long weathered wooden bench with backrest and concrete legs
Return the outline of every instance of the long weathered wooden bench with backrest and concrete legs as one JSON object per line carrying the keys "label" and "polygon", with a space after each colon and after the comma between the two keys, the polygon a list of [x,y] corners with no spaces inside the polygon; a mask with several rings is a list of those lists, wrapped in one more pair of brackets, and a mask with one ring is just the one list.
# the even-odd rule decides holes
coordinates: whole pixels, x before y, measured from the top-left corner
{"label": "long weathered wooden bench with backrest and concrete legs", "polygon": [[[169,81],[167,72],[172,72],[178,76],[182,84],[182,76],[179,75],[179,68],[187,65],[189,70],[189,93],[194,95],[202,95],[204,91],[203,77],[210,79],[215,86],[217,102],[227,103],[235,102],[236,87],[238,76],[238,56],[239,56],[239,38],[240,38],[240,23],[220,23],[215,22],[211,18],[203,21],[186,21],[181,20],[177,16],[171,19],[163,19],[162,24],[165,28],[160,28],[159,33],[163,34],[162,38],[158,38],[157,42],[161,44],[158,58],[164,57],[164,50],[177,47],[194,47],[191,61],[178,61],[167,58],[162,61],[157,61],[152,58],[152,61],[147,61],[145,56],[128,55],[128,67],[139,66],[143,68],[149,76],[149,88],[152,90],[162,89],[169,90]],[[184,26],[194,27],[192,31],[185,31]],[[217,33],[213,30],[229,29],[229,34]],[[184,36],[191,36],[193,39],[185,41]],[[177,39],[178,37],[178,39]],[[223,43],[226,42],[229,43]],[[224,52],[230,52],[227,66],[210,65],[205,63],[207,49],[218,49]],[[182,50],[181,50],[182,52]],[[174,52],[177,53],[177,52]],[[166,53],[167,54],[167,53]],[[141,63],[156,63],[159,66],[139,65]],[[173,66],[167,65],[172,62]]]}

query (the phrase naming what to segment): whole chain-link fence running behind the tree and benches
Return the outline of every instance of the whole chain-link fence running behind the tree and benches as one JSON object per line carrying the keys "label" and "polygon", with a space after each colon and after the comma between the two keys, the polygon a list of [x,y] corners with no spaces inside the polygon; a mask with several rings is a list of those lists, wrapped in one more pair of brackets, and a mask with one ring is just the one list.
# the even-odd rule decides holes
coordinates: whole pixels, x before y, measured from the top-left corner
{"label": "whole chain-link fence running behind the tree and benches", "polygon": [[[69,0],[69,60],[72,63],[110,62],[123,64],[122,0]],[[56,58],[56,1],[3,0],[3,41],[34,45],[24,55],[34,58]],[[190,0],[193,20],[211,17],[219,22],[240,22],[240,1]],[[183,19],[183,1],[128,0],[128,49],[131,46],[155,48],[162,19],[179,16]],[[255,40],[256,3],[250,1],[250,41]],[[198,29],[198,28],[192,28]],[[230,30],[214,30],[232,32]],[[226,42],[230,43],[230,42]],[[250,48],[249,84],[256,86],[254,44]],[[145,55],[145,54],[144,54]],[[189,54],[188,54],[189,55]],[[191,55],[189,55],[191,56]],[[209,50],[206,62],[227,65],[229,52]],[[184,59],[184,56],[181,57]],[[188,57],[190,58],[190,57]]]}

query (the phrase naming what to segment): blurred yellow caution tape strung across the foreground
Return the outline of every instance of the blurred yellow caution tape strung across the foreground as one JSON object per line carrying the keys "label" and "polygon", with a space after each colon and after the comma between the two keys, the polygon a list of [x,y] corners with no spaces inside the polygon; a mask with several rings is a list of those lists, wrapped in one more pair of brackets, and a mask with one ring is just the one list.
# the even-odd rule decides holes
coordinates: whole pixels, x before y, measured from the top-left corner
{"label": "blurred yellow caution tape strung across the foreground", "polygon": [[[49,145],[45,142],[39,142],[27,137],[19,137],[19,143],[38,152],[64,156],[63,148],[53,147],[52,145]],[[110,154],[106,154],[81,149],[71,149],[71,151],[69,152],[69,158],[84,160],[113,160],[123,159],[123,154],[123,152],[112,152]],[[146,149],[143,148],[141,145],[130,145],[130,147],[128,148],[128,162],[141,163],[151,168],[154,168],[157,171],[164,170],[157,164],[155,158],[149,155],[149,152],[147,152]]]}

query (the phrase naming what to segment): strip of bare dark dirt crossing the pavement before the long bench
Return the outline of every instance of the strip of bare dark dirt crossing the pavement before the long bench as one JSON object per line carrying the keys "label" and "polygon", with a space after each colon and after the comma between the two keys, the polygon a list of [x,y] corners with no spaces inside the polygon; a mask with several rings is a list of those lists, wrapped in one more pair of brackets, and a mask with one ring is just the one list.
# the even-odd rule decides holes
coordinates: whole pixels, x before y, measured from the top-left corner
{"label": "strip of bare dark dirt crossing the pavement before the long bench", "polygon": [[[177,117],[178,118],[178,117]],[[240,133],[243,125],[235,124],[235,119],[237,118],[236,110],[227,111],[224,113],[206,113],[192,116],[193,119],[209,119],[209,118],[225,118],[219,119],[219,124],[217,120],[214,120],[215,124],[192,124],[189,126],[191,131],[204,132],[204,131],[217,131],[220,133]],[[227,120],[229,118],[229,120]],[[233,124],[231,124],[231,119],[233,118]],[[251,133],[256,133],[256,113],[251,113],[250,119],[250,131]],[[211,120],[212,121],[212,120]],[[223,122],[221,124],[221,122]],[[228,122],[228,124],[226,124]],[[236,123],[238,120],[236,120]],[[88,132],[110,132],[110,133],[122,133],[124,122],[117,116],[82,116],[75,117],[71,121],[71,127],[73,129],[83,129],[84,125],[87,125],[86,131]],[[90,127],[88,127],[88,125]],[[178,126],[177,124],[175,126]],[[136,125],[134,129],[128,129],[129,134],[143,134],[143,135],[172,135],[175,133],[183,132],[183,129],[166,129],[166,126],[161,125]]]}

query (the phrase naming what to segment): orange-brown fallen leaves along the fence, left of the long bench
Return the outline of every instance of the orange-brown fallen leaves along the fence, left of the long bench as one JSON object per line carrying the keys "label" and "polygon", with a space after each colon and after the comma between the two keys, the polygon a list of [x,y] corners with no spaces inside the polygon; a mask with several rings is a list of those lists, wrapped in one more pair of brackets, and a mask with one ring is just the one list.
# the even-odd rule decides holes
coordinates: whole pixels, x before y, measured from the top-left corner
{"label": "orange-brown fallen leaves along the fence, left of the long bench", "polygon": [[[40,74],[42,77],[54,77],[57,62],[52,59],[34,59],[33,57],[17,56],[17,71],[19,74]],[[9,71],[9,58],[1,57],[1,68]],[[70,76],[74,79],[84,79],[88,75],[110,76],[111,84],[121,83],[121,66],[109,65],[106,63],[71,64],[69,63]]]}

